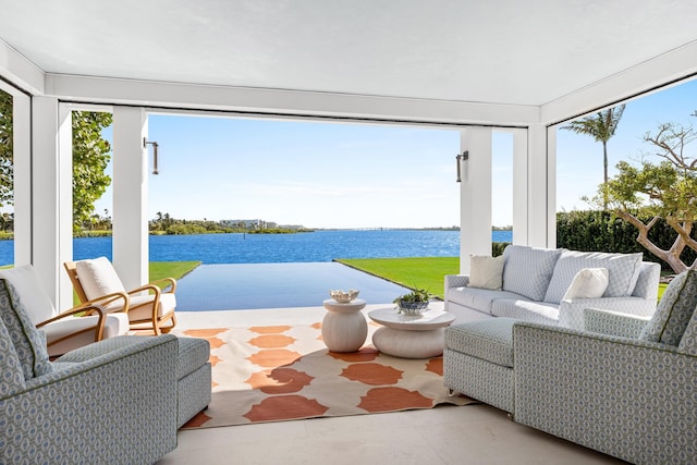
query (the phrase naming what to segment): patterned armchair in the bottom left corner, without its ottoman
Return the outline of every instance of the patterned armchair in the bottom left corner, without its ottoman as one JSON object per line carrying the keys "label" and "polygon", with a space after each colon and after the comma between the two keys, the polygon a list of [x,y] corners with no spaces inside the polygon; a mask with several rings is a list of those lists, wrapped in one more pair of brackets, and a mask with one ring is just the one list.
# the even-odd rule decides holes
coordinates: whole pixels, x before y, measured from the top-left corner
{"label": "patterned armchair in the bottom left corner, without its ottoman", "polygon": [[0,279],[0,463],[148,464],[176,448],[178,339],[118,340],[49,362]]}

